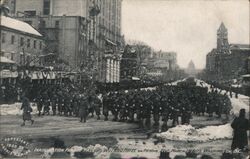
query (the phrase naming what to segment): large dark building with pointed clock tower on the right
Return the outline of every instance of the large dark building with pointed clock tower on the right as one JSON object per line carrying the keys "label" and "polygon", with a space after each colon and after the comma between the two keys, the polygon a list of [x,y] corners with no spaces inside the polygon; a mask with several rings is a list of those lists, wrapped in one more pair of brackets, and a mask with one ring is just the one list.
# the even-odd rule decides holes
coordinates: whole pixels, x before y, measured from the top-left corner
{"label": "large dark building with pointed clock tower on the right", "polygon": [[246,73],[250,45],[229,44],[228,33],[222,23],[217,30],[217,48],[206,57],[206,74],[210,80],[238,78]]}

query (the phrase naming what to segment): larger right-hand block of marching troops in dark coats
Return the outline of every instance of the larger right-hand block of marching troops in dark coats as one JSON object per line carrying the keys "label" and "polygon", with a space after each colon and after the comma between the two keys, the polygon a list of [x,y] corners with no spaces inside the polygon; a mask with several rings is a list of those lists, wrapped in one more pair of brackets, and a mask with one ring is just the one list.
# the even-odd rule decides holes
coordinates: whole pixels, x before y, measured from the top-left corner
{"label": "larger right-hand block of marching troops in dark coats", "polygon": [[[189,124],[192,114],[210,117],[214,113],[228,115],[231,103],[226,95],[208,92],[207,88],[196,86],[161,86],[155,90],[133,90],[127,92],[110,92],[103,96],[103,115],[108,120],[111,111],[114,121],[137,121],[140,125],[159,126],[162,130],[172,126]],[[180,118],[180,121],[179,121]]]}

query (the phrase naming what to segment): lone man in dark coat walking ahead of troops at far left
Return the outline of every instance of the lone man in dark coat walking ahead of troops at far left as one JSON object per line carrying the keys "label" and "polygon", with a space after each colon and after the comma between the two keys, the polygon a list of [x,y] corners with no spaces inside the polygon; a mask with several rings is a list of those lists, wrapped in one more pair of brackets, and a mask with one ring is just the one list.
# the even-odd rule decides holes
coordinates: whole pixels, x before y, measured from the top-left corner
{"label": "lone man in dark coat walking ahead of troops at far left", "polygon": [[32,120],[32,117],[31,117],[32,108],[30,106],[30,101],[27,97],[23,98],[21,110],[23,110],[23,124],[21,126],[25,125],[26,120],[31,121],[31,125],[32,125],[34,123],[34,120]]}

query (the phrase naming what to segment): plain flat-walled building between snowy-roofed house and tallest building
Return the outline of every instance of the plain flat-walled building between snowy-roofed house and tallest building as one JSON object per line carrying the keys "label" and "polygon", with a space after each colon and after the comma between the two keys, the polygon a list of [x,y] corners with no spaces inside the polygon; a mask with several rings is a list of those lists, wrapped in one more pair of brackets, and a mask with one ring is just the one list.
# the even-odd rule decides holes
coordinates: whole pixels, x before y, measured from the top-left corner
{"label": "plain flat-walled building between snowy-roofed house and tallest building", "polygon": [[[87,62],[87,20],[80,16],[24,16],[18,19],[29,23],[43,34],[44,52],[55,55],[76,69]],[[53,62],[53,61],[50,61]],[[48,64],[48,63],[47,63]]]}

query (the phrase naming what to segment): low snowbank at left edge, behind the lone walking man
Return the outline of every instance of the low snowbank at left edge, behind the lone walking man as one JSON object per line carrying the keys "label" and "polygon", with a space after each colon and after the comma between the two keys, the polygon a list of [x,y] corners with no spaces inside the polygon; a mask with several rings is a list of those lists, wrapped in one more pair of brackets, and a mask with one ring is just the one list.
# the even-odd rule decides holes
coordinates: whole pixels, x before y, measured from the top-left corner
{"label": "low snowbank at left edge, behind the lone walking man", "polygon": [[[0,115],[22,115],[23,111],[21,110],[21,103],[14,104],[2,104],[0,105]],[[35,114],[37,112],[37,107],[34,104],[32,105],[33,112]]]}

